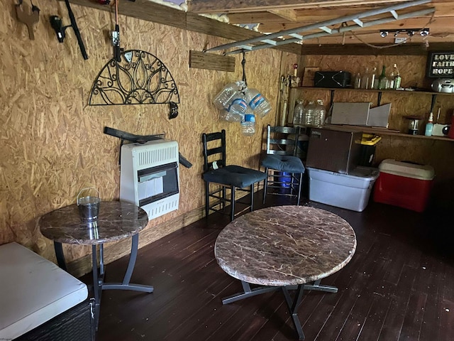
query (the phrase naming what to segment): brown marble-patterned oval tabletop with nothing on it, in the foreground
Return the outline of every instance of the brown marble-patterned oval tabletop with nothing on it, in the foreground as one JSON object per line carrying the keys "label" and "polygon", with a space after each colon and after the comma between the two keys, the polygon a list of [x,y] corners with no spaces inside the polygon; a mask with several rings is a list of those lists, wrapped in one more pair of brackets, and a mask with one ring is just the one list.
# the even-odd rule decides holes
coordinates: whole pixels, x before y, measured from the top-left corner
{"label": "brown marble-patterned oval tabletop with nothing on it, in the foreground", "polygon": [[356,236],[338,215],[306,206],[253,211],[218,235],[219,266],[240,281],[291,286],[325,278],[353,257]]}

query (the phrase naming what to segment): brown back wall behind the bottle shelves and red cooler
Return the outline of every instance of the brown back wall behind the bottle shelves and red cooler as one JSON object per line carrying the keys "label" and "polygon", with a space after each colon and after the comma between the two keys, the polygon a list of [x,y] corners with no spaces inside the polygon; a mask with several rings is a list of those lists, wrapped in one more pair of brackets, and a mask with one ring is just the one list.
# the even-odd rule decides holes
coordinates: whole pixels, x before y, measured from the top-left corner
{"label": "brown back wall behind the bottle shelves and red cooler", "polygon": [[[425,56],[374,56],[374,55],[305,55],[305,67],[320,67],[323,71],[345,70],[352,73],[364,72],[366,67],[372,70],[377,67],[381,72],[382,65],[392,69],[394,63],[402,76],[402,87],[430,88],[431,80],[425,77]],[[320,97],[323,90],[299,90],[304,99]],[[329,90],[325,90],[329,95]],[[405,116],[416,115],[421,117],[419,133],[423,134],[431,109],[431,94],[416,92],[382,92],[382,104],[391,103],[389,115],[389,129],[396,129],[402,133],[408,130],[409,121]],[[360,90],[336,91],[336,102],[372,102],[377,105],[377,94]],[[450,123],[454,112],[454,96],[438,94],[433,114],[437,117],[440,110],[439,123]],[[399,161],[411,161],[433,166],[436,171],[436,188],[434,194],[443,201],[448,200],[454,188],[454,141],[436,141],[433,139],[417,139],[406,136],[382,136],[376,148],[375,166],[385,158],[394,158]],[[450,189],[450,190],[448,190]],[[452,200],[452,199],[450,199]]]}

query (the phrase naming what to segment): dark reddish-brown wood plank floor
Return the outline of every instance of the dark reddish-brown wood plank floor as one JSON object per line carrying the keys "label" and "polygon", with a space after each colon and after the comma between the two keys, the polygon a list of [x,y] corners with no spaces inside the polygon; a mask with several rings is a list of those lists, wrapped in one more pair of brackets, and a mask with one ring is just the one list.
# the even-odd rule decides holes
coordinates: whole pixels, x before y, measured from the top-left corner
{"label": "dark reddish-brown wood plank floor", "polygon": [[[292,204],[273,195],[267,200],[267,206]],[[307,341],[454,340],[451,212],[421,214],[375,202],[362,213],[304,205],[340,215],[358,238],[352,261],[323,280],[338,293],[303,298],[299,320]],[[214,259],[226,224],[214,214],[140,249],[131,282],[155,291],[104,291],[96,340],[297,340],[279,291],[222,305],[221,298],[241,290]],[[127,261],[108,264],[106,281],[120,280]],[[81,279],[90,283],[91,276]]]}

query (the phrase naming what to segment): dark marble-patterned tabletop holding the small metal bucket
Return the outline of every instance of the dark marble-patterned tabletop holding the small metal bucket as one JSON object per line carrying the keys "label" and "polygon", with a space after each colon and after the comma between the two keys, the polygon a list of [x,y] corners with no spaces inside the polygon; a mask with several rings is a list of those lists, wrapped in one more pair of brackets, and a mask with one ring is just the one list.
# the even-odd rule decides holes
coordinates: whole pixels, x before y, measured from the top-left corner
{"label": "dark marble-patterned tabletop holding the small metal bucket", "polygon": [[76,204],[49,212],[38,220],[44,237],[65,244],[101,244],[126,239],[148,224],[148,215],[129,202],[101,201],[96,222],[82,221]]}

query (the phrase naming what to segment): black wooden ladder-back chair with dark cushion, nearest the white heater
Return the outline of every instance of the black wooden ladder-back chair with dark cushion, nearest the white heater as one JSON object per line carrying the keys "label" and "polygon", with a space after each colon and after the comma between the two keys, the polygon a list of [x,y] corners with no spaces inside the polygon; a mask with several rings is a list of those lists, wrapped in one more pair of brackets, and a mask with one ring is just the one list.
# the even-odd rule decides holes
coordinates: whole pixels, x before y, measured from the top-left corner
{"label": "black wooden ladder-back chair with dark cushion, nearest the white heater", "polygon": [[[204,144],[204,174],[205,181],[205,215],[209,211],[221,212],[230,215],[233,220],[235,214],[235,192],[242,190],[250,193],[250,203],[246,204],[253,211],[254,206],[254,185],[265,180],[266,175],[255,169],[245,168],[226,163],[226,131],[211,134],[202,134]],[[210,186],[214,185],[214,186]],[[216,187],[211,189],[211,187]],[[228,196],[227,189],[230,189]],[[210,198],[215,198],[210,202]],[[230,202],[230,212],[225,212],[226,203]],[[244,202],[240,202],[244,203]],[[243,212],[243,211],[241,211]]]}

